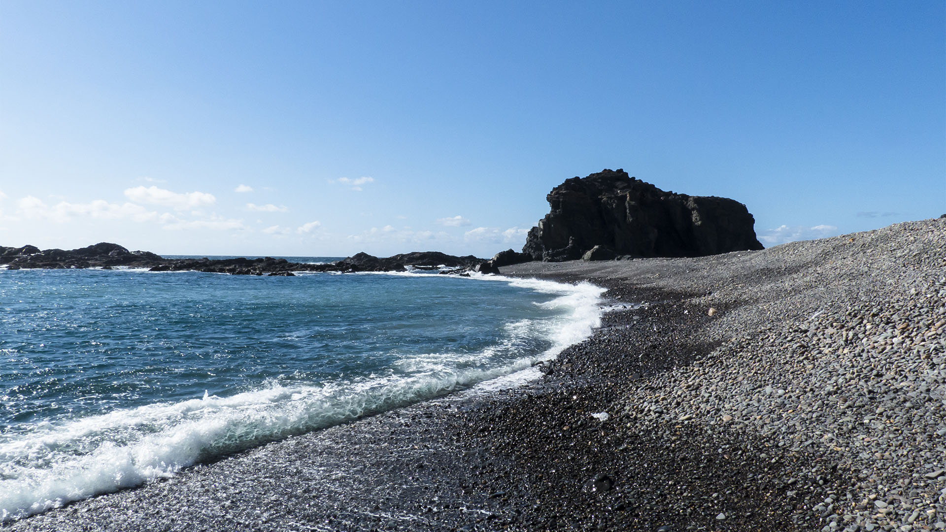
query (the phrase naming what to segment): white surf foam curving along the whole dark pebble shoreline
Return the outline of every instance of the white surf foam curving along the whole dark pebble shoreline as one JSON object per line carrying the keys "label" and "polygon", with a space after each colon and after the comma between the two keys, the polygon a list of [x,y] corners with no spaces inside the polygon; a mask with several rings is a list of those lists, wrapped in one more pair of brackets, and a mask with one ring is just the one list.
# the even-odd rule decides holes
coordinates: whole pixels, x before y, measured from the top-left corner
{"label": "white surf foam curving along the whole dark pebble shoreline", "polygon": [[[510,376],[554,357],[600,325],[600,287],[497,275],[473,278],[556,295],[539,304],[556,310],[555,317],[508,324],[502,343],[481,352],[430,353],[394,364],[406,372],[294,386],[269,382],[227,398],[204,394],[201,399],[117,409],[58,424],[43,421],[29,431],[2,435],[0,522],[168,477],[208,457]],[[492,349],[515,348],[530,335],[550,339],[551,346],[507,364],[482,365]],[[534,377],[537,372],[521,375]],[[499,382],[517,381],[513,376]]]}

